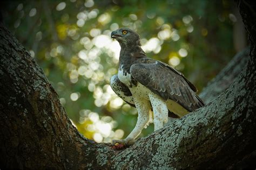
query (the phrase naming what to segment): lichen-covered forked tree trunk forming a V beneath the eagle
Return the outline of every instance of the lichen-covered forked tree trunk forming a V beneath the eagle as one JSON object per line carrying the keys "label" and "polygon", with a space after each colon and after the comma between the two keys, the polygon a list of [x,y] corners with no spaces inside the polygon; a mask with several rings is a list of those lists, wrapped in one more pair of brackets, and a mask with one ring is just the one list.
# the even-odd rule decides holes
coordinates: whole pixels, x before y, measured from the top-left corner
{"label": "lichen-covered forked tree trunk forming a V beneath the eagle", "polygon": [[[0,168],[256,167],[256,17],[250,3],[238,1],[251,51],[241,73],[238,75],[238,69],[237,76],[228,79],[230,86],[212,93],[211,89],[223,86],[211,85],[213,80],[208,93],[214,97],[205,107],[124,150],[96,144],[79,134],[42,69],[0,24]],[[217,76],[217,80],[226,79]],[[206,100],[208,93],[203,94]]]}

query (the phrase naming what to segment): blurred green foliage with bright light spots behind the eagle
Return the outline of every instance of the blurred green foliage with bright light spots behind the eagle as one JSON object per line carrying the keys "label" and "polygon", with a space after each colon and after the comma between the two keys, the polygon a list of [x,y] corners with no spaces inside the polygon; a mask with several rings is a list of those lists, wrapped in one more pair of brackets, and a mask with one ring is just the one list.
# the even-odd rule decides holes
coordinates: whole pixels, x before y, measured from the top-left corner
{"label": "blurred green foliage with bright light spots behind the eagle", "polygon": [[[43,68],[78,130],[96,141],[126,136],[137,119],[136,110],[109,86],[119,50],[111,31],[138,31],[150,58],[183,72],[199,91],[234,55],[232,4],[226,0],[48,0],[5,6],[9,30]],[[142,136],[152,130],[151,125]]]}

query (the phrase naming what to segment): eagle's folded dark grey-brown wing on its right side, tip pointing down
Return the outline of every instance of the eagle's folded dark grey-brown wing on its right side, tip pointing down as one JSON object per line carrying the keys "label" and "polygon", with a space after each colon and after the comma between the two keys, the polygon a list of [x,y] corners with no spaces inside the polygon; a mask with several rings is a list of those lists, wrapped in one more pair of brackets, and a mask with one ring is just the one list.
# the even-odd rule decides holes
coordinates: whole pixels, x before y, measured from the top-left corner
{"label": "eagle's folded dark grey-brown wing on its right side, tip pointing down", "polygon": [[196,87],[183,74],[163,62],[140,59],[130,68],[131,76],[149,88],[153,93],[171,99],[186,110],[193,111],[204,105],[196,95]]}

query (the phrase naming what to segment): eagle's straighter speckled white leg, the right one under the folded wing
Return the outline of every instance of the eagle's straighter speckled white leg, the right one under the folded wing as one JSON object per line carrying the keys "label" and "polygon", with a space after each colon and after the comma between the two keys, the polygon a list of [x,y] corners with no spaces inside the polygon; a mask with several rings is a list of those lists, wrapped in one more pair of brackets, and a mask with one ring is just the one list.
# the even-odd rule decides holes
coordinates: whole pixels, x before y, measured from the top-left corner
{"label": "eagle's straighter speckled white leg, the right one under the folded wing", "polygon": [[168,108],[160,96],[150,93],[149,98],[153,108],[154,131],[156,131],[163,128],[164,123],[168,122]]}

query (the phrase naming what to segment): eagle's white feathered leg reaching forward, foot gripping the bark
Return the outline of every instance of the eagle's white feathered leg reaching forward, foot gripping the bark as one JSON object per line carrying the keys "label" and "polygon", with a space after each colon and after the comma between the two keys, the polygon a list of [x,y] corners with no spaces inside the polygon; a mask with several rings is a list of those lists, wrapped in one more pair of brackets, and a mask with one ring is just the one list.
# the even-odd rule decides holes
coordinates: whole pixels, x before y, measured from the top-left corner
{"label": "eagle's white feathered leg reaching forward, foot gripping the bark", "polygon": [[134,139],[136,139],[140,132],[142,132],[145,125],[149,122],[149,111],[151,110],[150,102],[140,98],[140,97],[134,97],[134,103],[136,105],[136,108],[138,109],[138,120],[137,123],[132,130],[132,132],[123,140],[113,140],[113,143],[122,143],[125,145],[132,145],[134,143]]}

